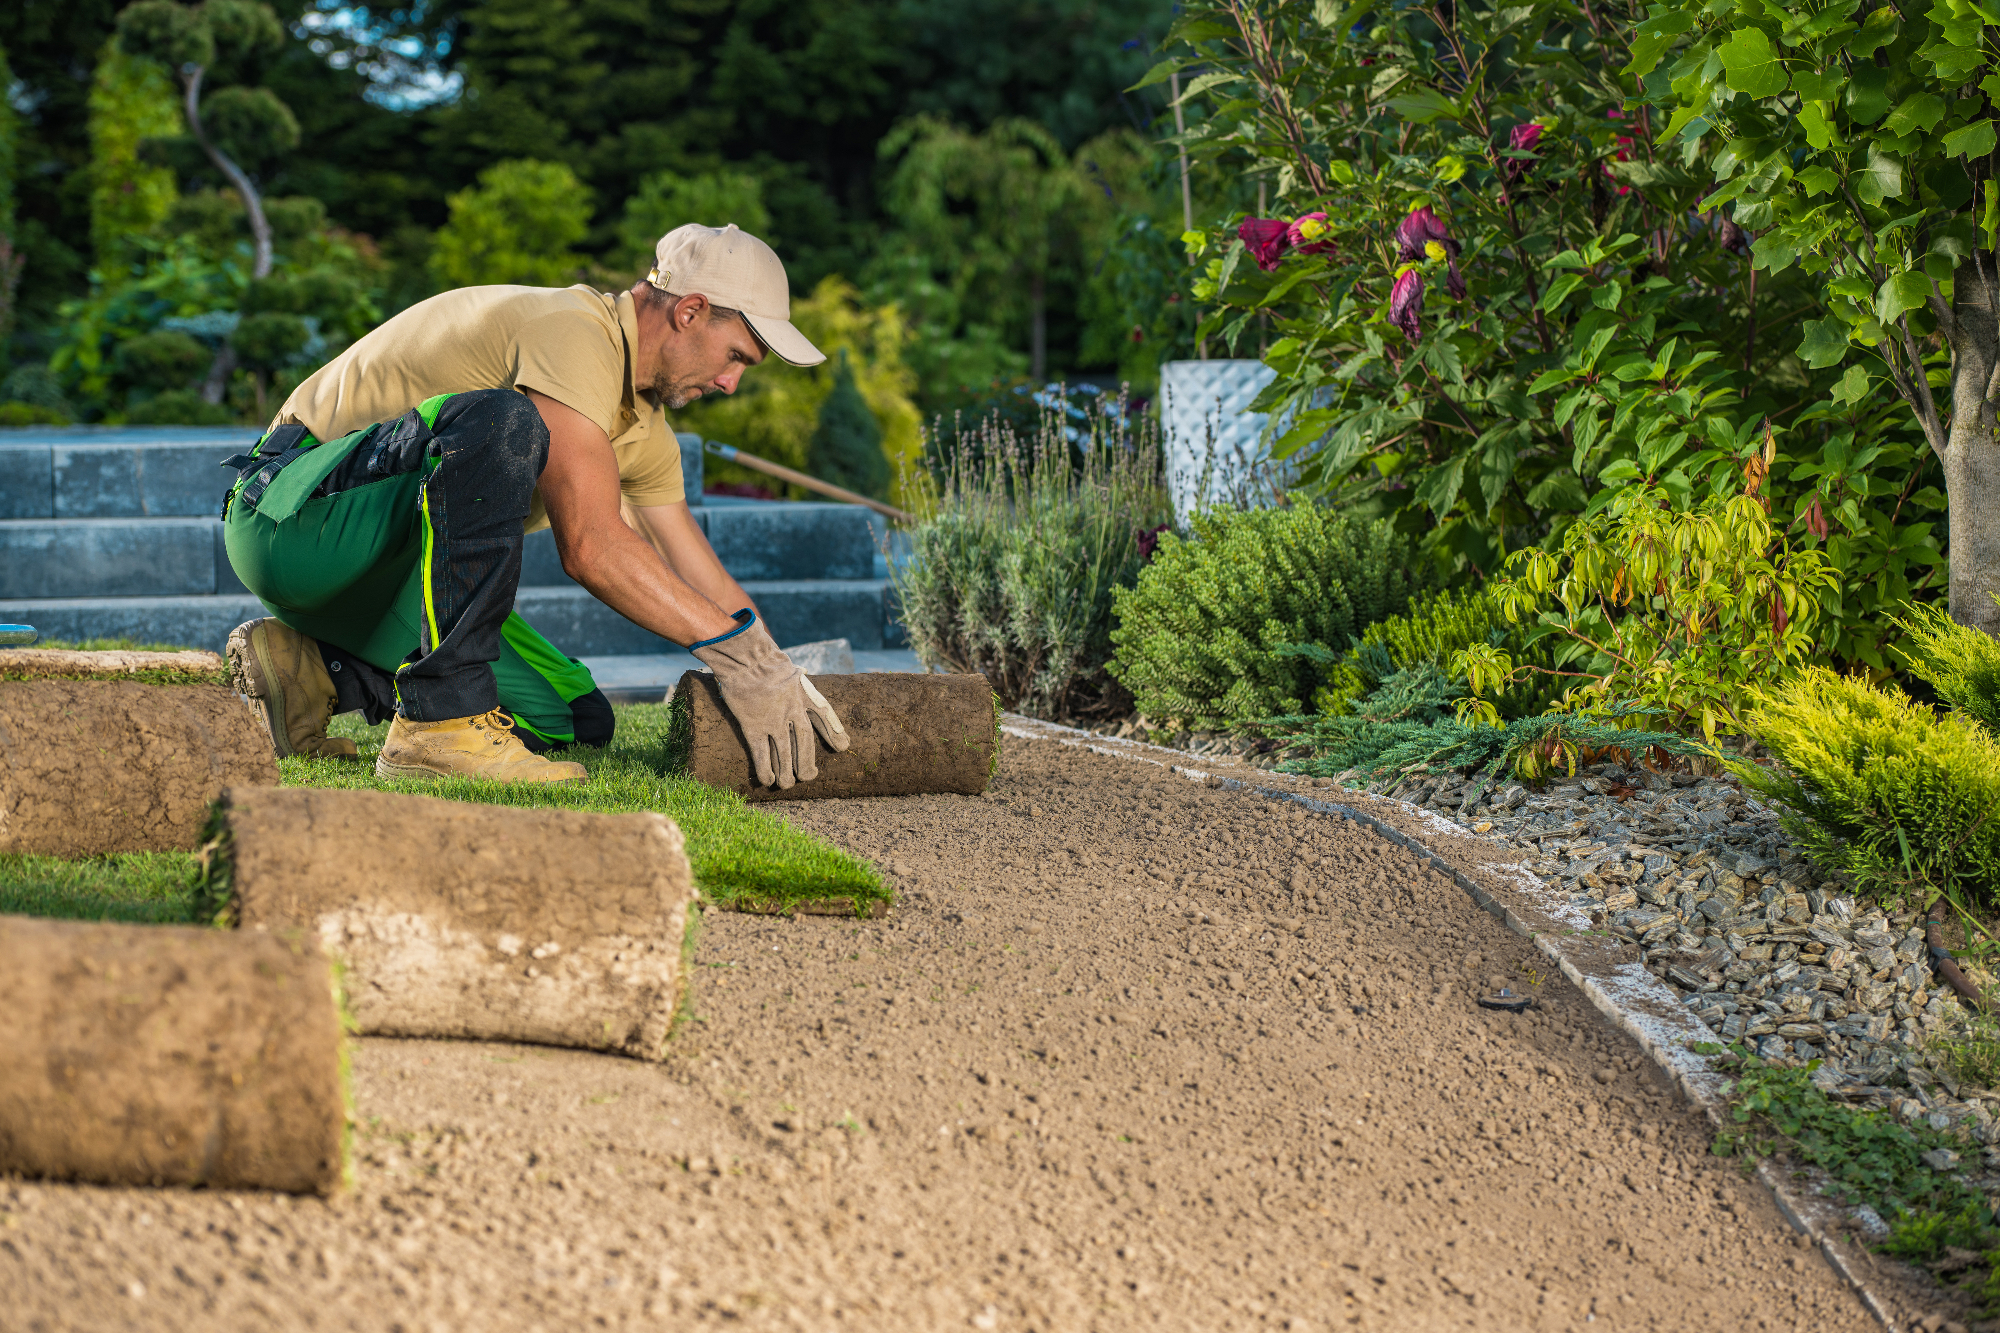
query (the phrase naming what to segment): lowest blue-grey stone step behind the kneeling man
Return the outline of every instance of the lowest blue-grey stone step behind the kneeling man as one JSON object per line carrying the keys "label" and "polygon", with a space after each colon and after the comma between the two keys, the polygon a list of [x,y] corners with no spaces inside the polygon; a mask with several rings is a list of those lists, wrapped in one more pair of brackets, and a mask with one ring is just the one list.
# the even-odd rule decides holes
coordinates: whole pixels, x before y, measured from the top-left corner
{"label": "lowest blue-grey stone step behind the kneeling man", "polygon": [[[904,646],[886,578],[748,580],[778,642],[846,638],[856,650]],[[522,588],[516,610],[570,656],[684,654],[582,588]],[[248,592],[208,596],[38,596],[0,600],[0,622],[44,638],[136,638],[222,650],[232,628],[266,614]],[[692,658],[688,658],[692,660]]]}

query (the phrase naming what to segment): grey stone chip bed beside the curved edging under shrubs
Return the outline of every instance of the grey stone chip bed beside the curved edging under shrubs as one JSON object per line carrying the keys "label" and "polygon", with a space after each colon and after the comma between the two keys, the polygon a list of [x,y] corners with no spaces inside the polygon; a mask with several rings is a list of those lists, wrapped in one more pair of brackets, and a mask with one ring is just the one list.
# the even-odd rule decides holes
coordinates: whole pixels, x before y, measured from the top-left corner
{"label": "grey stone chip bed beside the curved edging under shrubs", "polygon": [[[1440,815],[1464,807],[1466,827],[1480,793],[1436,773],[1390,795]],[[1948,1109],[1902,1097],[1914,1079],[1936,1077],[1920,1047],[1966,1023],[1930,971],[1922,923],[1856,903],[1734,779],[1596,765],[1542,793],[1500,787],[1468,831],[1518,851],[1598,929],[1638,949],[1724,1043],[1754,1043],[1770,1061],[1822,1061],[1842,1097],[1906,1121],[1940,1115],[2000,1143],[2000,1091],[1968,1091]],[[1994,1167],[2000,1189],[2000,1157]]]}

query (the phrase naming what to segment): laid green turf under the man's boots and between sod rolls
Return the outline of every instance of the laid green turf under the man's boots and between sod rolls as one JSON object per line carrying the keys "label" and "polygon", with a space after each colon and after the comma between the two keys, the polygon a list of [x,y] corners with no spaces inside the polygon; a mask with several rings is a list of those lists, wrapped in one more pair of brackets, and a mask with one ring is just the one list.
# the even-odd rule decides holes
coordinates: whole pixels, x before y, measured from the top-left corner
{"label": "laid green turf under the man's boots and between sod rolls", "polygon": [[[282,759],[286,787],[364,787],[486,805],[562,807],[610,815],[660,811],[688,839],[694,883],[720,907],[848,901],[868,911],[892,899],[882,875],[810,833],[752,811],[736,793],[672,777],[666,767],[666,707],[624,705],[606,749],[554,751],[590,769],[590,783],[508,787],[502,783],[384,781],[374,753],[388,725],[366,727],[336,717],[330,731],[362,747],[362,759]],[[196,861],[188,853],[136,853],[60,861],[0,857],[0,913],[80,917],[88,921],[194,921]]]}

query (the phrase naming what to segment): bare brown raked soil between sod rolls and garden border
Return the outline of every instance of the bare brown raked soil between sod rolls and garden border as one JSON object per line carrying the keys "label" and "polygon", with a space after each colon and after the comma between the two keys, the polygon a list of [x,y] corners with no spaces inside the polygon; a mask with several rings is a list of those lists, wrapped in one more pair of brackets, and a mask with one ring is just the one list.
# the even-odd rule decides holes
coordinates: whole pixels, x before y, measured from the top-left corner
{"label": "bare brown raked soil between sod rolls and garden border", "polygon": [[[1012,741],[986,797],[766,809],[896,911],[710,913],[666,1065],[364,1039],[332,1201],[0,1181],[4,1323],[1878,1327],[1366,829]],[[1502,979],[1538,1009],[1478,1009]]]}

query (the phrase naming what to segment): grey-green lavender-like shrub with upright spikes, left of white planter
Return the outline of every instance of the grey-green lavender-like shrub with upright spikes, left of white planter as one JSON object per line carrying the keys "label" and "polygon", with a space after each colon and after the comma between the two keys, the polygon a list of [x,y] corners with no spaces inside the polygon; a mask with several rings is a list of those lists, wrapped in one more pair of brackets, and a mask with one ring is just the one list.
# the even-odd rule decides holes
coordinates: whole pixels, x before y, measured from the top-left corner
{"label": "grey-green lavender-like shrub with upright spikes, left of white planter", "polygon": [[896,594],[926,666],[978,671],[1010,709],[1046,719],[1116,717],[1106,673],[1112,596],[1140,570],[1140,532],[1168,516],[1152,428],[1122,400],[1066,418],[1044,410],[1032,440],[1000,418],[960,432],[938,476],[906,482],[918,524]]}

